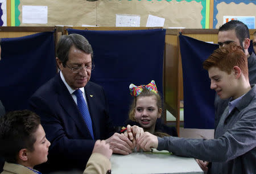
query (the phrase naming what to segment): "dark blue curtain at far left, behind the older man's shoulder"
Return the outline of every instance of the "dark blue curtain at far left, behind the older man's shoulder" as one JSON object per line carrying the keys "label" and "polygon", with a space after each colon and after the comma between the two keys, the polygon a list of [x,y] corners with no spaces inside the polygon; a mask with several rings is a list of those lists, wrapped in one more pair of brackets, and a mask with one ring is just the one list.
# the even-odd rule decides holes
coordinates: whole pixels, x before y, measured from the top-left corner
{"label": "dark blue curtain at far left, behind the older man's shoulder", "polygon": [[6,111],[28,108],[28,98],[56,74],[54,32],[2,38],[0,100]]}

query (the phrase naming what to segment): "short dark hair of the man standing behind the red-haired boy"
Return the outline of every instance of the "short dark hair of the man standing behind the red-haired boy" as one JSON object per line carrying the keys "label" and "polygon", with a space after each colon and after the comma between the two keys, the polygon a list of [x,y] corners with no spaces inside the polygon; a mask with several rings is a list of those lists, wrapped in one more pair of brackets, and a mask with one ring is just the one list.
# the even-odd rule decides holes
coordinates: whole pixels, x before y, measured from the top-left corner
{"label": "short dark hair of the man standing behind the red-haired boy", "polygon": [[236,36],[239,39],[240,45],[243,47],[243,40],[246,38],[250,39],[250,32],[246,24],[242,23],[239,20],[230,20],[227,23],[224,23],[218,31],[228,31],[234,30],[236,32]]}

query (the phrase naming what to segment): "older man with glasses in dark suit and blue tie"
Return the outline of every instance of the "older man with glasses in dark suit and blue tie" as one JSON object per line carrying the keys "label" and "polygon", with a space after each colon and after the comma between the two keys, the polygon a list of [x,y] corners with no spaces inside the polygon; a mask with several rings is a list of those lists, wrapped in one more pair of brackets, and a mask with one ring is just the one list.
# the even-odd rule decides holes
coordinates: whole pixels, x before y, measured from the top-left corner
{"label": "older man with glasses in dark suit and blue tie", "polygon": [[104,89],[89,81],[92,57],[84,36],[62,36],[56,58],[60,72],[30,98],[30,109],[40,115],[52,144],[42,172],[82,170],[97,139],[105,139],[117,154],[134,148],[125,135],[114,133]]}

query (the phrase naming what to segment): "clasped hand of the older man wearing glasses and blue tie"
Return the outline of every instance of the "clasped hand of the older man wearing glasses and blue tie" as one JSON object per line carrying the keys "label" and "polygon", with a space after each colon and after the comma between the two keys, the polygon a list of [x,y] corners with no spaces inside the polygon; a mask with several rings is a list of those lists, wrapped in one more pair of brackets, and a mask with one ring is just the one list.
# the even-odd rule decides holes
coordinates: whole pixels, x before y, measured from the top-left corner
{"label": "clasped hand of the older man wearing glasses and blue tie", "polygon": [[106,143],[109,143],[115,154],[129,155],[134,149],[133,143],[124,134],[114,133],[106,139]]}

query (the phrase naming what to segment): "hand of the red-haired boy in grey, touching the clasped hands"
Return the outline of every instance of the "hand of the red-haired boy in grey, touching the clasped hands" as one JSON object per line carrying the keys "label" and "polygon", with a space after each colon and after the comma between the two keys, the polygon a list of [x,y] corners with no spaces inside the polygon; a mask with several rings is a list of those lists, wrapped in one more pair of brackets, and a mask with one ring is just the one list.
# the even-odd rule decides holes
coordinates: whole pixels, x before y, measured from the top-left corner
{"label": "hand of the red-haired boy in grey, touching the clasped hands", "polygon": [[137,140],[137,148],[138,145],[142,148],[143,151],[150,151],[151,148],[158,147],[158,138],[149,132],[144,132],[142,136],[140,136]]}

